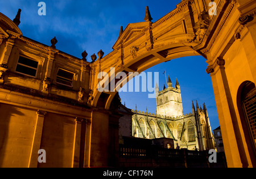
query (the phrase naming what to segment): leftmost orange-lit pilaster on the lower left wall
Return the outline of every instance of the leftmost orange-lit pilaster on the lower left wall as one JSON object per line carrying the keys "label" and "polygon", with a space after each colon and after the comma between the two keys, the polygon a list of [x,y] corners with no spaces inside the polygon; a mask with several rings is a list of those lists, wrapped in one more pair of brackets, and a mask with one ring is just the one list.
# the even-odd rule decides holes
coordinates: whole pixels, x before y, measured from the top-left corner
{"label": "leftmost orange-lit pilaster on the lower left wall", "polygon": [[42,111],[38,110],[38,112],[36,112],[36,114],[37,114],[37,118],[36,118],[35,132],[34,132],[34,137],[32,140],[30,160],[28,163],[29,168],[38,167],[38,156],[39,156],[38,151],[40,150],[44,116],[46,116],[46,112],[42,112]]}

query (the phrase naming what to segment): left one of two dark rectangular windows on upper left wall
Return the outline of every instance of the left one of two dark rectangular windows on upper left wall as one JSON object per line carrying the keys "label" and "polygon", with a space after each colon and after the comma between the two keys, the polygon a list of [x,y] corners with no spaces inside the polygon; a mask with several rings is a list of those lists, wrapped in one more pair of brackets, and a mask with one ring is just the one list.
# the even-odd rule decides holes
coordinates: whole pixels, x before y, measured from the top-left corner
{"label": "left one of two dark rectangular windows on upper left wall", "polygon": [[32,59],[28,59],[20,56],[18,64],[16,66],[16,73],[36,77],[36,71],[38,70],[38,62]]}

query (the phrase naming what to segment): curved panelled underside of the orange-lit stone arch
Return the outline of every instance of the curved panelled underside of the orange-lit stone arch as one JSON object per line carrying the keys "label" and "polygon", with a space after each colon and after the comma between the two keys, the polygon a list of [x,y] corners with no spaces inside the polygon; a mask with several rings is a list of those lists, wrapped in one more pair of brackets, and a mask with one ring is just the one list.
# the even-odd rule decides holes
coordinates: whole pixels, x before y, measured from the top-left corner
{"label": "curved panelled underside of the orange-lit stone arch", "polygon": [[[133,59],[132,62],[125,64],[125,66],[123,66],[122,68],[115,69],[115,74],[119,72],[124,72],[126,73],[126,78],[114,79],[115,82],[113,83],[116,84],[114,90],[109,89],[109,92],[97,91],[95,95],[96,97],[94,98],[95,100],[93,106],[101,107],[108,110],[110,108],[114,96],[118,92],[117,88],[121,88],[127,82],[129,82],[129,80],[132,79],[129,78],[129,73],[138,72],[138,74],[140,74],[153,66],[156,66],[163,62],[171,61],[172,59],[176,58],[200,56],[200,54],[196,52],[192,46],[195,46],[195,43],[177,43],[167,45],[159,49],[151,50],[150,52]],[[104,72],[110,74],[110,68],[104,70]],[[111,80],[113,79],[110,79],[110,75],[108,77],[109,78],[104,79],[108,80],[110,87]]]}

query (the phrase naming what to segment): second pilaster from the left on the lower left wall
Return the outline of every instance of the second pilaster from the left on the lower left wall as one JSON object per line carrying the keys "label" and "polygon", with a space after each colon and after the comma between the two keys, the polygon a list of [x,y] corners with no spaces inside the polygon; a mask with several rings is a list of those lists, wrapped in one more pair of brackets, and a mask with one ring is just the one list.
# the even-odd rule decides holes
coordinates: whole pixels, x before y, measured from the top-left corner
{"label": "second pilaster from the left on the lower left wall", "polygon": [[73,144],[72,167],[79,168],[81,129],[82,129],[83,120],[76,118],[75,121],[76,121],[76,126],[75,126],[74,144]]}

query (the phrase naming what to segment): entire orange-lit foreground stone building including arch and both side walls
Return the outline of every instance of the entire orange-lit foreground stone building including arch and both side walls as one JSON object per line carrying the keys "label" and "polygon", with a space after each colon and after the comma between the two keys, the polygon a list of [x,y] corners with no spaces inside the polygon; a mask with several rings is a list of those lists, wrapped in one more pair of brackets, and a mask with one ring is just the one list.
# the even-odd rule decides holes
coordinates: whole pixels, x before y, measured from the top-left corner
{"label": "entire orange-lit foreground stone building including arch and both side walls", "polygon": [[[129,79],[129,72],[203,56],[228,167],[256,167],[256,2],[216,0],[216,15],[209,2],[183,0],[154,23],[147,8],[145,22],[127,25],[113,52],[100,50],[90,63],[86,53],[79,59],[57,50],[57,37],[51,46],[24,37],[20,10],[13,21],[0,14],[0,166],[116,166],[119,99],[117,91],[97,90],[98,73],[115,67]],[[47,163],[36,160],[39,149]]]}

